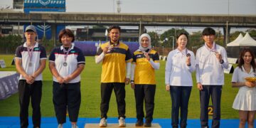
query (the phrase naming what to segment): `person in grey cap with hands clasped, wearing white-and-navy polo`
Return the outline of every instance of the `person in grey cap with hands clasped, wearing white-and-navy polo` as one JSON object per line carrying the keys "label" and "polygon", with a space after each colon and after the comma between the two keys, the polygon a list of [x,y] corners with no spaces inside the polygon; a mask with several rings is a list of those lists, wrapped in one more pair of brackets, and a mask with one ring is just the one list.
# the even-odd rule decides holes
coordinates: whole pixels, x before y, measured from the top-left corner
{"label": "person in grey cap with hands clasped, wearing white-and-navy polo", "polygon": [[27,26],[26,42],[16,48],[15,65],[18,82],[21,127],[28,127],[28,106],[31,98],[33,127],[41,127],[42,72],[46,68],[46,49],[36,42],[36,28]]}

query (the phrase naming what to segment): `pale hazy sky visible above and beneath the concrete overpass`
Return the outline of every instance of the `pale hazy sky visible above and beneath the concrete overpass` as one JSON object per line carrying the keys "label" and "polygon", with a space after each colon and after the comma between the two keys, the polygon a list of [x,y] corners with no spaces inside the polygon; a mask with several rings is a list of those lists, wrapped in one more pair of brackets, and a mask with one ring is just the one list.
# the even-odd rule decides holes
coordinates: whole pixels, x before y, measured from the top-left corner
{"label": "pale hazy sky visible above and beneath the concrete overpass", "polygon": [[[256,0],[120,0],[121,13],[256,15]],[[13,0],[0,0],[0,8]],[[117,13],[117,0],[66,0],[67,12]],[[168,27],[151,27],[157,33]],[[191,28],[195,30],[196,28]],[[198,28],[203,29],[203,28]],[[219,28],[222,31],[222,28]],[[232,29],[231,29],[232,31]]]}

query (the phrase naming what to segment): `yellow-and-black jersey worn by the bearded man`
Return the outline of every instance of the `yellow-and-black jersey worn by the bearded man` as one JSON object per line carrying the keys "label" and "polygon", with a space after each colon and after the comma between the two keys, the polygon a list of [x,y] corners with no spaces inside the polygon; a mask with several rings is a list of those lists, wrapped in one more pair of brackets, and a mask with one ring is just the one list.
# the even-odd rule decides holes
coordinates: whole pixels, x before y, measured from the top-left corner
{"label": "yellow-and-black jersey worn by the bearded man", "polygon": [[[103,43],[96,55],[100,55],[102,49],[109,46],[110,42]],[[125,82],[127,62],[132,62],[132,54],[126,44],[119,42],[117,46],[107,51],[102,60],[101,82]]]}

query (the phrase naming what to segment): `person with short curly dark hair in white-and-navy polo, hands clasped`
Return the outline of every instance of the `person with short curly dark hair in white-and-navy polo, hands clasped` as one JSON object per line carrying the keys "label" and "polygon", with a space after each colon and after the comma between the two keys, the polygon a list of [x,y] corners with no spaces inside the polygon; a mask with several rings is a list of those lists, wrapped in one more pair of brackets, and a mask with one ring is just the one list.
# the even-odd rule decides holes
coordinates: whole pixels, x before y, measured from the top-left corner
{"label": "person with short curly dark hair in white-and-navy polo, hands clasped", "polygon": [[75,36],[69,29],[59,33],[62,46],[54,48],[49,57],[49,68],[53,74],[53,104],[58,128],[66,122],[66,110],[72,128],[77,128],[81,103],[80,73],[85,67],[85,56],[75,47]]}

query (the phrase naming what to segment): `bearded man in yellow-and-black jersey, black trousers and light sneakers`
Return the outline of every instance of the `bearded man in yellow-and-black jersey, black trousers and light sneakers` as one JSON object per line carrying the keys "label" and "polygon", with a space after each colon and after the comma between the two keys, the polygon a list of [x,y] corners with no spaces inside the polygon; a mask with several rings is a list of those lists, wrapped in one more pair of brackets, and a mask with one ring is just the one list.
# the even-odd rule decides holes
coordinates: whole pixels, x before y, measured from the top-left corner
{"label": "bearded man in yellow-and-black jersey, black trousers and light sneakers", "polygon": [[102,62],[101,75],[101,120],[100,127],[107,127],[107,111],[109,110],[112,90],[117,99],[119,127],[125,127],[125,83],[129,84],[132,54],[129,47],[119,41],[119,26],[110,26],[108,29],[110,42],[100,46],[95,62]]}

